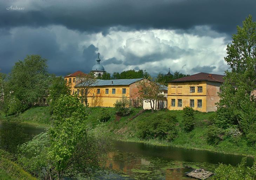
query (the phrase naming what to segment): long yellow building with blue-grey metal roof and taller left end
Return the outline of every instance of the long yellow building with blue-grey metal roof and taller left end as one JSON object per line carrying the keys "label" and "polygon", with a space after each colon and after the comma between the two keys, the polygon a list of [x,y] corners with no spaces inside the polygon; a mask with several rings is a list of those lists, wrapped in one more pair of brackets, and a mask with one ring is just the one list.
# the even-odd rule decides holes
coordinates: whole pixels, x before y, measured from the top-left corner
{"label": "long yellow building with blue-grey metal roof and taller left end", "polygon": [[[78,94],[85,90],[82,87],[82,83],[77,83],[76,77],[86,75],[85,73],[78,71],[68,76],[65,76],[66,83],[71,88],[71,94]],[[117,99],[121,99],[122,95],[130,99],[133,106],[139,104],[137,92],[139,91],[136,83],[143,78],[137,79],[120,79],[120,80],[100,80],[97,79],[90,88],[87,99],[89,106],[102,106],[102,107],[114,107],[114,103]],[[82,103],[85,103],[82,101]]]}

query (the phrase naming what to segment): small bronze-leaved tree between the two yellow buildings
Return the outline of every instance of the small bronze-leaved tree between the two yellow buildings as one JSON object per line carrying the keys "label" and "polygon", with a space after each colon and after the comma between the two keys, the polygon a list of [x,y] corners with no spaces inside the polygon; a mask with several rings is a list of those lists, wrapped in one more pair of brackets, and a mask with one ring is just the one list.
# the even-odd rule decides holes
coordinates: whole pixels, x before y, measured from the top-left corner
{"label": "small bronze-leaved tree between the two yellow buildings", "polygon": [[149,77],[148,79],[143,79],[136,83],[137,88],[139,91],[137,92],[137,96],[140,97],[140,99],[146,100],[150,102],[151,112],[154,112],[155,103],[158,100],[164,99],[163,92],[163,84],[157,82],[158,80]]}

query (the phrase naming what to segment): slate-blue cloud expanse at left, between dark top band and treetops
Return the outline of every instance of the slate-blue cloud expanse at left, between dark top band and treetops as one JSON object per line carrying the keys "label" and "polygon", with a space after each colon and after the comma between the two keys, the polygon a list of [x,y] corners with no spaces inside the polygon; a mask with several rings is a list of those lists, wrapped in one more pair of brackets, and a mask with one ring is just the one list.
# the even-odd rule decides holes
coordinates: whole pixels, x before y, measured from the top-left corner
{"label": "slate-blue cloud expanse at left, between dark top band and treetops", "polygon": [[97,48],[94,45],[78,51],[77,44],[71,42],[67,47],[60,48],[55,32],[47,29],[18,28],[1,37],[0,72],[9,73],[14,63],[23,60],[27,54],[39,54],[48,59],[50,73],[62,76],[77,70],[89,73],[96,63],[95,51]]}

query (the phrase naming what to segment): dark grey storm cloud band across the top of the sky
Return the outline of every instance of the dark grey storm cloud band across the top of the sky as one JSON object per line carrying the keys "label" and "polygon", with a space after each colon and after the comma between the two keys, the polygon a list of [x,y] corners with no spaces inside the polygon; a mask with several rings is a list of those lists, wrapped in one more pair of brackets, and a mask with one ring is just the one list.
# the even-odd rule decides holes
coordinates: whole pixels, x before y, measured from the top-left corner
{"label": "dark grey storm cloud band across the top of the sky", "polygon": [[25,10],[6,10],[0,2],[0,27],[63,25],[69,29],[107,33],[110,27],[127,29],[182,29],[209,25],[218,32],[234,33],[248,14],[256,15],[255,0],[173,1],[31,1]]}

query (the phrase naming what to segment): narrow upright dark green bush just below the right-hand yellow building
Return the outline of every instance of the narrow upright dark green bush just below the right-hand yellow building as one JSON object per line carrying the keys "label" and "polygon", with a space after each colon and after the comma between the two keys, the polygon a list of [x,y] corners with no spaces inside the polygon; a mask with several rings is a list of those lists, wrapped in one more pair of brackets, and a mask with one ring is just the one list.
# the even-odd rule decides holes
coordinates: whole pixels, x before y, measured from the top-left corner
{"label": "narrow upright dark green bush just below the right-hand yellow building", "polygon": [[184,130],[189,132],[194,129],[195,125],[195,117],[194,117],[194,109],[192,107],[184,107],[183,108],[183,120],[182,120]]}

